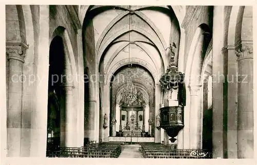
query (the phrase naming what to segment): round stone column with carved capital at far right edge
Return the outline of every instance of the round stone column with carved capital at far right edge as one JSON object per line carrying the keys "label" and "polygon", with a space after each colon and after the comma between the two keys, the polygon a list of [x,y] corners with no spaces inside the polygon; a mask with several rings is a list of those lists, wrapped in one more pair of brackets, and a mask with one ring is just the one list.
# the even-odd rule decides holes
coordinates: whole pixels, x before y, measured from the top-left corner
{"label": "round stone column with carved capital at far right edge", "polygon": [[237,157],[253,158],[253,48],[242,44],[238,56]]}

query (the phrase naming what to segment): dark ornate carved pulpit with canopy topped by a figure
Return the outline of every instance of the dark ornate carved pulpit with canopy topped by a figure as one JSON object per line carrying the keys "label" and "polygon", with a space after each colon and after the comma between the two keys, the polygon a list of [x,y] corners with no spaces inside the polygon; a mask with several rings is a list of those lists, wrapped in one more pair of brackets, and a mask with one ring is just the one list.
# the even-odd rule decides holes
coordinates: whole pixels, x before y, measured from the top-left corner
{"label": "dark ornate carved pulpit with canopy topped by a figure", "polygon": [[[185,74],[178,71],[174,61],[174,49],[176,45],[170,44],[171,62],[169,67],[160,78],[162,92],[168,94],[167,103],[160,108],[160,128],[166,130],[171,137],[171,142],[176,141],[176,137],[184,127],[184,106],[186,106],[186,88],[184,83]],[[163,100],[164,101],[164,100]]]}

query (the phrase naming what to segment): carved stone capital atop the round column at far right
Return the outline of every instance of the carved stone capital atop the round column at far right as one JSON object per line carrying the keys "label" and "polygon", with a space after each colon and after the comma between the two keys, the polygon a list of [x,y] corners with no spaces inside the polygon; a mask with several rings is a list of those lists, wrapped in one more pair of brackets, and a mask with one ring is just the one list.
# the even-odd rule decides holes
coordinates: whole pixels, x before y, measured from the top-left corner
{"label": "carved stone capital atop the round column at far right", "polygon": [[235,49],[235,54],[238,57],[237,60],[253,58],[252,44],[241,44],[239,47]]}

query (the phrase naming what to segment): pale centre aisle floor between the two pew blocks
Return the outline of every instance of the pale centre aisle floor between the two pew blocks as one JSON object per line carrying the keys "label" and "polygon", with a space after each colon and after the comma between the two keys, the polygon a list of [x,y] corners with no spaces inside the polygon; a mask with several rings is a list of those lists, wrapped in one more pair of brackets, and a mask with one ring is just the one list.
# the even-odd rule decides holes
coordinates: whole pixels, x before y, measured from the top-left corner
{"label": "pale centre aisle floor between the two pew blocks", "polygon": [[140,145],[121,145],[121,154],[119,158],[142,158],[139,151]]}

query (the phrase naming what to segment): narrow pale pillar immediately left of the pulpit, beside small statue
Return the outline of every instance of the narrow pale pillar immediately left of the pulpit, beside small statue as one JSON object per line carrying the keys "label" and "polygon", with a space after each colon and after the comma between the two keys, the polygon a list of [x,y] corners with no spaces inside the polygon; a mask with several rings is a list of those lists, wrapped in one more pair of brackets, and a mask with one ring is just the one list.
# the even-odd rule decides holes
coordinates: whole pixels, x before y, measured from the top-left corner
{"label": "narrow pale pillar immediately left of the pulpit, beside small statue", "polygon": [[[160,115],[159,114],[159,109],[160,109],[160,104],[161,104],[161,85],[160,84],[157,84],[155,85],[155,119],[156,119],[156,116],[157,115]],[[155,126],[156,126],[156,120],[154,122],[154,132],[155,132],[155,142],[157,143],[160,143],[161,142],[161,130],[157,129]]]}

